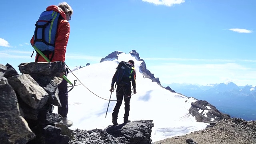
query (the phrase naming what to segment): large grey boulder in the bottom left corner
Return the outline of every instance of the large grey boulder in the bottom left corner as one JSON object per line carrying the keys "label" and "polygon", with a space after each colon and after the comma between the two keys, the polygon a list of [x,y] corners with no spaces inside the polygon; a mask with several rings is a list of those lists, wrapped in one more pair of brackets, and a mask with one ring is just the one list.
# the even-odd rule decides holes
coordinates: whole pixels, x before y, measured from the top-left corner
{"label": "large grey boulder in the bottom left corner", "polygon": [[0,84],[0,142],[26,144],[36,137],[20,115],[17,96],[10,84]]}

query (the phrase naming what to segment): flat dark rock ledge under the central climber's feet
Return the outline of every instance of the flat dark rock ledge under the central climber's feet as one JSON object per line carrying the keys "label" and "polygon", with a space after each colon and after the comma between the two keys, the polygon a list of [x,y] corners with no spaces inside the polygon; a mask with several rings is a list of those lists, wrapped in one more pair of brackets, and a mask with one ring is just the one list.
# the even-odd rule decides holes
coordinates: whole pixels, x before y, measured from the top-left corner
{"label": "flat dark rock ledge under the central climber's feet", "polygon": [[151,144],[152,120],[111,125],[104,130],[74,130],[70,144]]}

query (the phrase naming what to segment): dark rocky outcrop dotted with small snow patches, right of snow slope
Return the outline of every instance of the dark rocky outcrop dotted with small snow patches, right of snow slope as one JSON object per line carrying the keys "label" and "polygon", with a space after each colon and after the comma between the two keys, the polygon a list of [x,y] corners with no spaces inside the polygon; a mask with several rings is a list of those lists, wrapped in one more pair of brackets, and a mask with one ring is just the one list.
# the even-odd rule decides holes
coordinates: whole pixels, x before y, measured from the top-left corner
{"label": "dark rocky outcrop dotted with small snow patches, right of snow slope", "polygon": [[197,122],[218,122],[220,120],[230,119],[230,115],[223,114],[205,100],[197,100],[191,103],[190,114],[196,117]]}

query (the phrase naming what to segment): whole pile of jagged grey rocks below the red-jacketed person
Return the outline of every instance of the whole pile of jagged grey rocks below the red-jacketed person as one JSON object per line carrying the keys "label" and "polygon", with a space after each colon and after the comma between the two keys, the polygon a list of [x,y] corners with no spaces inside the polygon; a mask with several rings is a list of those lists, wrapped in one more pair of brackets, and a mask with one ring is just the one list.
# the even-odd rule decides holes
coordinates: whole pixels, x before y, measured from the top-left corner
{"label": "whole pile of jagged grey rocks below the red-jacketed person", "polygon": [[[63,62],[19,65],[20,72],[0,64],[0,143],[68,144],[69,136],[55,127],[62,116],[52,113],[58,98]],[[26,74],[25,74],[26,73]],[[60,126],[59,126],[60,127]]]}

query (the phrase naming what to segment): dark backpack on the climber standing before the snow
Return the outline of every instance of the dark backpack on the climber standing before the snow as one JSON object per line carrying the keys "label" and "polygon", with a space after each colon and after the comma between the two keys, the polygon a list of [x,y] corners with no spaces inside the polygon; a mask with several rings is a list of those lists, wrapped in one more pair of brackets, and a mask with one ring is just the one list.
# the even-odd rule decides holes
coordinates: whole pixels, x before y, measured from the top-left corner
{"label": "dark backpack on the climber standing before the snow", "polygon": [[121,61],[116,67],[116,72],[113,76],[114,82],[118,86],[130,85],[130,76],[132,75],[132,64]]}

